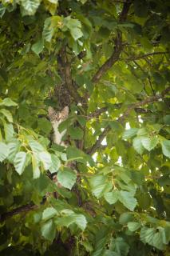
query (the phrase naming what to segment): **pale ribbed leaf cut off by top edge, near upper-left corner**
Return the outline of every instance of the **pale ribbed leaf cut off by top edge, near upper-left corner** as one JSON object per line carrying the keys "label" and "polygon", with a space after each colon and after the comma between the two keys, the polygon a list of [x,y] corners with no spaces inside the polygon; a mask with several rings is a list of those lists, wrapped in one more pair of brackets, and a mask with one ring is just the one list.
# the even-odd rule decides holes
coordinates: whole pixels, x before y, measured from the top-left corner
{"label": "pale ribbed leaf cut off by top edge, near upper-left corner", "polygon": [[22,0],[22,16],[34,15],[40,2],[40,0]]}

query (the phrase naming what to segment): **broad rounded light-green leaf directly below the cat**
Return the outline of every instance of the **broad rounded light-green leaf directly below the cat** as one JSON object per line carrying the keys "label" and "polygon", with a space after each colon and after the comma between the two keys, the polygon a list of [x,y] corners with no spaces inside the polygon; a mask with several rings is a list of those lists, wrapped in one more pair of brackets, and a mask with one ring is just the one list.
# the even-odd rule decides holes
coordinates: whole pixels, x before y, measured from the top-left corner
{"label": "broad rounded light-green leaf directly below the cat", "polygon": [[61,183],[61,186],[64,186],[65,188],[71,190],[73,187],[73,184],[76,182],[77,174],[65,167],[63,170],[59,170],[57,173],[57,181]]}

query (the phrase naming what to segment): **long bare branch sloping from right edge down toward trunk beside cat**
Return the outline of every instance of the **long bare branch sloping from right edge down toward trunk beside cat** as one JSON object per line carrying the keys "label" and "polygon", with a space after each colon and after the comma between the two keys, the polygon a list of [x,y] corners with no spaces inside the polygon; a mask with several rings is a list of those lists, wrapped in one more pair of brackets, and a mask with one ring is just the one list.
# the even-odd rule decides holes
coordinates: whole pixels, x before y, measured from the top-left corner
{"label": "long bare branch sloping from right edge down toward trunk beside cat", "polygon": [[[126,110],[125,113],[116,121],[123,123],[132,110],[139,109],[140,106],[148,105],[149,103],[152,103],[152,102],[157,102],[159,101],[160,98],[164,98],[164,96],[167,95],[169,92],[170,92],[170,86],[168,86],[165,90],[163,90],[161,94],[157,94],[155,96],[145,98],[141,102],[136,102],[128,106],[128,110]],[[109,133],[109,130],[111,130],[111,127],[106,126],[105,130],[103,130],[103,132],[97,139],[97,142],[95,142],[95,144],[89,150],[86,151],[87,154],[94,154],[96,152],[96,150],[101,146],[101,142],[104,140],[105,136]]]}

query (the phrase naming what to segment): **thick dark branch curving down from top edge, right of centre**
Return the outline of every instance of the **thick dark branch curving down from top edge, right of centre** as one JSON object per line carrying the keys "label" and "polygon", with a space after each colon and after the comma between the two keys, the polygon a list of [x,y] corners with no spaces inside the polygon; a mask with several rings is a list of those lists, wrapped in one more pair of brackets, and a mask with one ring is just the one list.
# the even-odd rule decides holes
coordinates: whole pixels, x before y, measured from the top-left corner
{"label": "thick dark branch curving down from top edge, right of centre", "polygon": [[[121,14],[120,14],[120,18],[119,18],[120,22],[124,22],[125,19],[127,18],[129,7],[130,7],[130,2],[125,2],[124,7],[123,7],[123,9],[121,11]],[[118,31],[117,32],[117,38],[115,39],[115,47],[114,47],[113,54],[99,68],[99,70],[97,70],[96,74],[93,75],[92,82],[94,82],[94,83],[98,82],[101,79],[102,75],[105,74],[105,72],[107,70],[109,70],[114,65],[115,62],[117,62],[117,60],[119,59],[119,56],[121,54],[122,49],[123,49],[122,36],[121,36],[121,32]]]}

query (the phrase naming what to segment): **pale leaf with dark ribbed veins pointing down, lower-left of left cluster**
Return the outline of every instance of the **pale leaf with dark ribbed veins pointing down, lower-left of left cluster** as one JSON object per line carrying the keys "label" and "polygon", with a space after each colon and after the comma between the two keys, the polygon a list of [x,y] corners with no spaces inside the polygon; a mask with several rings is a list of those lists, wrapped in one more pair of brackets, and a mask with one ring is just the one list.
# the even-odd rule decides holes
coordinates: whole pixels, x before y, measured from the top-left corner
{"label": "pale leaf with dark ribbed veins pointing down, lower-left of left cluster", "polygon": [[26,167],[26,152],[20,151],[14,158],[14,167],[18,174],[22,174]]}

